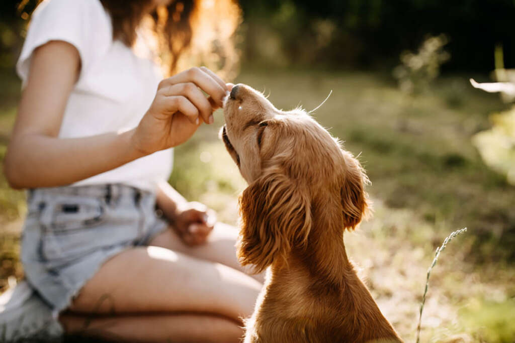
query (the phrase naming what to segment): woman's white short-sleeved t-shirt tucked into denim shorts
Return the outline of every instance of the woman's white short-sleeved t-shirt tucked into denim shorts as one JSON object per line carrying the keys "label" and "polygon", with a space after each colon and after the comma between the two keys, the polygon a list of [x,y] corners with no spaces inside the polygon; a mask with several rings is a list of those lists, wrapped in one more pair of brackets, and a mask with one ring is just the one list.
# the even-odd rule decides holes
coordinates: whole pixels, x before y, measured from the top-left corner
{"label": "woman's white short-sleeved t-shirt tucked into denim shorts", "polygon": [[[46,0],[32,19],[16,70],[25,86],[32,52],[49,41],[79,51],[80,75],[64,111],[59,138],[119,132],[138,125],[162,79],[159,66],[112,39],[111,17],[99,0]],[[142,44],[143,43],[143,44]],[[136,43],[144,46],[145,42]],[[155,190],[171,172],[173,151],[156,152],[75,185],[124,183]]]}

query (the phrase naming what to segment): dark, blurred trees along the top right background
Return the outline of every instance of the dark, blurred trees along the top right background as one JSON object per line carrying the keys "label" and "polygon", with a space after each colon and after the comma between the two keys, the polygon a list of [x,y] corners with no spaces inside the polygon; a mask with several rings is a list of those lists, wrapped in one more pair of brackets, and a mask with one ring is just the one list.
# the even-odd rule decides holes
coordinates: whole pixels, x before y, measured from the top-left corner
{"label": "dark, blurred trees along the top right background", "polygon": [[[510,0],[240,3],[247,25],[243,48],[251,61],[273,52],[266,50],[265,39],[274,41],[272,50],[278,51],[276,59],[268,63],[393,67],[401,51],[414,49],[427,34],[440,32],[449,37],[448,51],[453,56],[445,70],[491,70],[490,51],[499,42],[507,47],[508,61],[513,63],[515,58],[510,34],[515,3]],[[331,34],[325,38],[328,30]]]}

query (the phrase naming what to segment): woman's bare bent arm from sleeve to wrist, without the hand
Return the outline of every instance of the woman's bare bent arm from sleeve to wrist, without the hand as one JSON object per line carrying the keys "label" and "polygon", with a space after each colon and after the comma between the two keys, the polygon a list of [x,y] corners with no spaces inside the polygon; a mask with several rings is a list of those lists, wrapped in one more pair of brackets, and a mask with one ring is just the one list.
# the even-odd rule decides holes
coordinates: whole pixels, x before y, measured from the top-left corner
{"label": "woman's bare bent arm from sleeve to wrist, without the hand", "polygon": [[5,159],[12,187],[67,185],[142,156],[130,145],[130,131],[56,138],[79,71],[79,53],[71,44],[53,41],[33,53]]}

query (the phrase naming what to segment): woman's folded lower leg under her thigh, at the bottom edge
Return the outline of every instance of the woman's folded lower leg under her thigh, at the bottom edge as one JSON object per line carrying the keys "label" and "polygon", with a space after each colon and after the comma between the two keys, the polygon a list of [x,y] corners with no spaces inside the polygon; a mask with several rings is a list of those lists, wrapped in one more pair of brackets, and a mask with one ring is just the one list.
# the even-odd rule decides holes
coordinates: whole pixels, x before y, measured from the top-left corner
{"label": "woman's folded lower leg under her thigh, at the bottom edge", "polygon": [[68,334],[114,341],[238,342],[244,331],[233,321],[202,314],[134,315],[87,319],[63,315]]}

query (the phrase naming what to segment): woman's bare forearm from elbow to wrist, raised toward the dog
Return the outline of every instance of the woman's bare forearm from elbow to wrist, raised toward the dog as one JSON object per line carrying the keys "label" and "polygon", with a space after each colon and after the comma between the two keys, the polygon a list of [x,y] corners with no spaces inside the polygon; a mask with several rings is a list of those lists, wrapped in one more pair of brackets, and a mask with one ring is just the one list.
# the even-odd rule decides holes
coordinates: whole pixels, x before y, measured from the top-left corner
{"label": "woman's bare forearm from elbow to wrist, raised toward the dog", "polygon": [[144,156],[132,145],[133,131],[82,138],[20,135],[9,144],[4,173],[13,188],[70,185]]}

